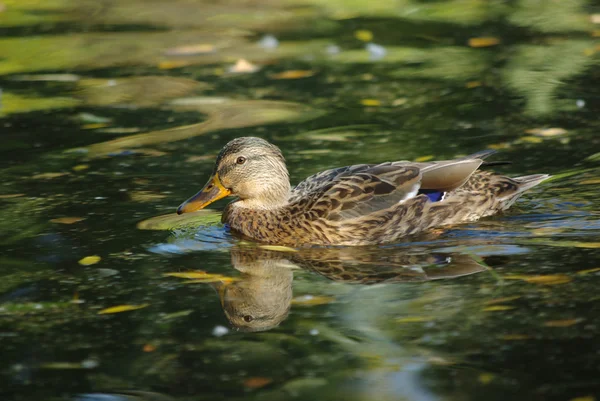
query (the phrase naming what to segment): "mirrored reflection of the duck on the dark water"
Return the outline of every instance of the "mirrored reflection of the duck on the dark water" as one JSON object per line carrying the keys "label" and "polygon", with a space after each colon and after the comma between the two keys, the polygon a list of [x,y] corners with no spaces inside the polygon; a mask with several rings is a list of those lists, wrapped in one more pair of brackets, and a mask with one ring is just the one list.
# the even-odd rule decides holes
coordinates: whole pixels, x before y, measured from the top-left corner
{"label": "mirrored reflection of the duck on the dark water", "polygon": [[213,283],[225,316],[239,331],[278,326],[292,304],[294,269],[354,284],[407,283],[452,279],[486,270],[462,254],[410,254],[406,249],[308,248],[284,252],[261,247],[231,250],[240,276]]}

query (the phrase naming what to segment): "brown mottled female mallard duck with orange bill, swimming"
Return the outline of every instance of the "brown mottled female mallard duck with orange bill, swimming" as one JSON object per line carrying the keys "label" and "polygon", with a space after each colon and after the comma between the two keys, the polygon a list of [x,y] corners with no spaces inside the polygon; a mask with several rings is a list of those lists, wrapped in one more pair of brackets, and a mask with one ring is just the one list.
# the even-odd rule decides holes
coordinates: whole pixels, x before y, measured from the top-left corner
{"label": "brown mottled female mallard duck with orange bill, swimming", "polygon": [[507,209],[549,176],[509,178],[478,171],[483,151],[456,160],[359,164],[317,173],[290,188],[279,148],[237,138],[219,153],[212,177],[177,213],[229,195],[222,221],[265,243],[299,246],[393,242],[431,228]]}

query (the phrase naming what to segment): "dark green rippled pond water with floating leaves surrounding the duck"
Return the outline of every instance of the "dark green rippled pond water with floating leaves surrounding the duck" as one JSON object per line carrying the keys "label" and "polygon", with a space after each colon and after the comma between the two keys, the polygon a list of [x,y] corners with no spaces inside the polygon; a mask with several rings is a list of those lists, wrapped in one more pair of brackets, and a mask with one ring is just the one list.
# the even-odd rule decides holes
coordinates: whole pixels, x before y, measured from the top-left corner
{"label": "dark green rippled pond water with floating leaves surrounding the duck", "polygon": [[[600,399],[600,4],[0,0],[3,400]],[[380,247],[177,217],[229,140],[292,183],[498,149],[554,177]]]}

